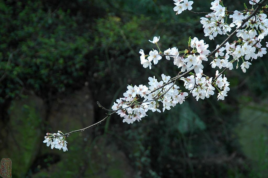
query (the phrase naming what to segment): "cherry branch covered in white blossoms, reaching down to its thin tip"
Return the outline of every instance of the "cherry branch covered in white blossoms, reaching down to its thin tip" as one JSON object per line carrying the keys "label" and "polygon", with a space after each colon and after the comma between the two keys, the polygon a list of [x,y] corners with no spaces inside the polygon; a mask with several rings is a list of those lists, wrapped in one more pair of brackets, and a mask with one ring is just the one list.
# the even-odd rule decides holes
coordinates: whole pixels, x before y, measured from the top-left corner
{"label": "cherry branch covered in white blossoms, reaching down to its thin tip", "polygon": [[[251,37],[251,40],[249,40],[250,38],[244,37],[243,34],[241,33],[242,30],[240,30],[243,28],[244,24],[247,23],[248,20],[250,20],[250,18],[253,16],[255,18],[254,18],[254,20],[251,20],[251,22],[250,22],[251,24],[256,23],[257,19],[258,19],[258,23],[260,23],[262,21],[263,17],[261,17],[261,14],[257,14],[257,13],[265,1],[267,1],[267,0],[262,0],[259,3],[256,3],[255,1],[250,0],[250,2],[254,2],[258,6],[256,7],[255,10],[253,10],[253,9],[248,10],[246,7],[245,7],[246,10],[241,10],[240,12],[247,12],[246,18],[243,16],[243,14],[239,14],[238,12],[235,12],[235,11],[226,10],[226,8],[223,7],[223,5],[221,6],[221,5],[217,4],[218,3],[217,0],[214,1],[214,4],[211,3],[211,5],[213,4],[212,5],[213,7],[211,9],[214,10],[214,12],[211,12],[211,13],[213,13],[215,16],[217,16],[216,19],[218,19],[218,20],[215,19],[215,22],[216,22],[215,26],[213,26],[213,25],[210,26],[210,27],[213,27],[213,29],[212,29],[212,31],[214,30],[213,35],[212,35],[212,32],[206,33],[205,29],[204,29],[205,36],[209,35],[210,39],[214,39],[214,37],[217,36],[219,30],[222,32],[219,34],[227,34],[227,36],[228,36],[220,45],[217,45],[216,49],[213,50],[212,52],[207,50],[207,48],[209,47],[208,44],[204,43],[203,40],[199,41],[195,37],[194,39],[189,38],[189,41],[188,41],[189,50],[178,51],[178,49],[176,47],[173,47],[172,49],[169,48],[164,53],[162,53],[158,47],[158,44],[157,44],[160,37],[157,38],[155,36],[153,41],[151,41],[151,40],[149,40],[149,41],[151,43],[155,43],[157,45],[159,52],[157,50],[153,49],[153,51],[150,51],[149,55],[145,55],[144,51],[141,49],[139,53],[141,54],[140,59],[141,59],[141,64],[143,64],[143,67],[146,68],[149,66],[149,68],[151,69],[151,61],[153,61],[154,64],[157,64],[158,60],[160,60],[163,56],[166,56],[166,59],[168,59],[168,60],[170,59],[169,56],[172,56],[174,58],[174,65],[177,65],[179,68],[183,66],[183,68],[181,70],[185,71],[185,69],[187,69],[188,70],[187,72],[184,72],[184,73],[179,72],[175,77],[173,77],[171,79],[170,79],[170,76],[165,76],[164,74],[162,74],[161,75],[162,76],[161,82],[158,82],[157,79],[155,79],[155,76],[154,76],[154,78],[149,77],[150,90],[148,90],[148,87],[143,86],[143,85],[139,85],[139,87],[137,87],[136,85],[134,87],[128,86],[127,87],[128,90],[124,93],[125,98],[118,99],[116,101],[117,103],[114,102],[114,105],[112,106],[113,110],[107,109],[107,108],[103,107],[99,102],[97,102],[97,104],[100,108],[102,108],[105,111],[111,112],[109,114],[106,113],[107,116],[105,118],[103,118],[101,121],[99,121],[95,124],[92,124],[88,127],[85,127],[83,129],[71,131],[71,132],[68,132],[65,134],[63,134],[61,131],[58,131],[58,133],[54,133],[54,134],[47,133],[47,136],[45,137],[45,140],[43,142],[47,143],[47,146],[49,146],[51,144],[51,149],[53,149],[55,146],[55,148],[58,148],[58,149],[63,148],[63,150],[66,151],[67,150],[67,147],[66,147],[67,142],[65,140],[66,140],[66,137],[68,137],[71,133],[84,131],[85,129],[88,129],[88,128],[91,128],[94,126],[98,126],[99,124],[101,124],[101,122],[105,121],[108,117],[110,117],[114,113],[120,114],[120,117],[124,117],[123,122],[127,122],[129,124],[129,123],[133,123],[135,120],[139,121],[139,120],[141,120],[142,117],[147,116],[146,112],[148,110],[152,110],[152,112],[154,112],[156,110],[158,112],[161,112],[159,109],[157,109],[157,107],[159,107],[159,101],[163,103],[163,112],[164,112],[165,109],[169,110],[170,106],[174,107],[177,103],[182,104],[183,101],[186,98],[188,98],[191,94],[193,96],[196,96],[197,101],[199,98],[201,98],[201,99],[204,99],[205,97],[209,98],[210,95],[214,94],[213,90],[215,90],[215,88],[217,88],[217,90],[218,90],[218,100],[219,99],[223,100],[224,97],[227,96],[227,92],[230,90],[230,88],[228,87],[229,82],[227,81],[227,78],[226,77],[222,78],[221,75],[226,71],[227,68],[230,67],[230,70],[232,69],[232,67],[233,67],[232,63],[234,61],[236,61],[236,58],[237,58],[237,66],[238,66],[238,58],[241,56],[243,59],[243,63],[241,65],[241,68],[242,68],[243,72],[245,72],[246,71],[245,69],[248,69],[249,65],[251,65],[250,62],[244,62],[243,56],[246,53],[245,52],[246,49],[250,50],[251,48],[256,46],[261,41],[261,39],[263,39],[264,36],[267,35],[267,34],[264,34],[263,31],[262,32],[258,31],[259,35],[262,35],[262,36],[258,37],[258,40],[256,40],[256,42],[255,42],[255,40],[254,40],[255,38]],[[192,3],[193,3],[193,1],[187,1],[185,3],[184,2],[181,3],[180,1],[178,1],[175,3],[176,7],[173,10],[177,11],[176,14],[180,14],[186,7],[186,9],[188,9],[188,11],[190,11],[192,13],[196,13],[196,14],[210,13],[210,12],[193,12],[193,11],[191,11],[191,9],[192,9],[191,4]],[[266,6],[263,9],[265,9]],[[238,16],[238,15],[243,16],[242,18],[239,17],[240,19],[238,19],[239,20],[238,22],[237,21],[235,22],[234,21],[235,18],[232,17],[233,23],[235,23],[237,25],[237,28],[231,34],[227,33],[227,31],[231,32],[230,27],[233,27],[231,25],[229,25],[230,29],[228,29],[228,30],[224,29],[224,26],[221,26],[220,29],[216,28],[216,27],[218,27],[218,25],[221,24],[220,20],[224,19],[223,17],[226,16],[226,14],[228,14],[228,13],[234,13],[233,16],[235,16],[235,15],[236,16]],[[203,22],[201,22],[201,23],[204,26],[206,25],[207,21],[211,22],[210,20],[206,20],[206,18],[202,19],[202,21]],[[263,24],[264,23],[262,23],[261,25],[264,26]],[[266,24],[266,26],[267,26],[267,24]],[[248,24],[247,24],[247,27],[248,27]],[[260,28],[260,29],[262,29],[262,28]],[[266,29],[267,29],[267,27],[266,27]],[[243,30],[246,31],[247,28],[243,29]],[[239,34],[237,34],[238,31],[239,31]],[[232,47],[230,47],[231,45],[229,46],[231,50],[227,49],[227,45],[229,45],[229,43],[228,44],[226,44],[226,43],[236,34],[238,37],[243,37],[245,39],[241,38],[242,40],[239,39],[238,41],[235,41],[235,43],[239,42],[239,45],[235,46],[235,44],[232,43],[233,46]],[[245,43],[243,43],[243,40],[245,41]],[[241,42],[243,45],[243,49],[242,49],[242,45],[240,45]],[[253,42],[255,42],[255,43],[252,46],[248,45],[248,44],[252,44]],[[203,74],[203,70],[202,70],[203,65],[201,63],[202,63],[202,60],[207,61],[208,60],[207,58],[209,58],[209,57],[211,57],[213,60],[215,60],[215,59],[218,60],[218,55],[220,55],[220,56],[224,55],[224,53],[222,53],[222,51],[223,51],[222,47],[224,45],[226,45],[225,50],[227,52],[229,51],[228,54],[232,53],[231,55],[233,55],[233,60],[230,62],[228,62],[228,60],[227,60],[226,63],[231,63],[231,66],[228,64],[229,67],[226,67],[219,74],[217,74],[218,73],[218,71],[217,71],[216,76],[213,80],[213,77],[209,78],[208,76]],[[258,54],[255,54],[256,48],[254,48],[254,55],[251,56],[251,54],[250,54],[250,57],[252,57],[252,59],[255,57],[258,57],[258,56],[262,57],[262,54],[266,54],[266,49],[261,48],[261,46],[262,45],[259,43],[258,47],[256,47],[259,50]],[[190,47],[192,47],[192,51],[190,50]],[[235,50],[233,50],[233,49],[235,49]],[[241,52],[241,50],[243,50],[244,52],[243,51]],[[180,53],[184,53],[184,55],[178,55]],[[200,54],[198,56],[199,57],[198,59],[196,59],[197,57],[196,57],[195,53]],[[202,54],[204,54],[204,55],[202,55]],[[228,55],[228,54],[226,53],[226,55]],[[213,55],[215,55],[215,58],[212,57]],[[245,56],[246,60],[248,60],[250,58],[248,55],[249,54],[247,54]],[[204,58],[204,57],[206,57],[206,58]],[[219,58],[221,58],[221,57],[219,57]],[[223,57],[223,58],[225,58],[225,57]],[[216,60],[214,61],[215,64],[213,62],[211,62],[211,64],[214,65],[214,67],[213,66],[212,67],[215,68],[215,66],[220,65],[220,68],[221,68],[222,63],[217,64],[217,62],[219,63],[219,61],[216,61]],[[182,92],[181,90],[178,90],[177,88],[179,88],[179,87],[175,86],[175,83],[178,80],[180,80],[182,77],[184,77],[185,75],[189,74],[192,71],[194,71],[194,84],[193,84],[192,76],[187,77],[188,79],[184,79],[185,80],[184,81],[185,88],[188,90],[191,90],[189,92],[189,96],[188,96],[188,92]],[[206,76],[206,77],[203,77],[203,76]],[[198,80],[196,80],[196,77],[198,78]],[[217,82],[216,82],[216,84],[214,84],[214,82],[216,80],[217,80]],[[211,81],[212,81],[212,83],[211,83]],[[163,83],[165,83],[165,84],[163,84]],[[161,86],[159,86],[159,85],[161,85]],[[157,86],[159,86],[159,87],[157,87]],[[165,87],[165,86],[167,86],[167,87]],[[168,91],[170,91],[171,88],[173,88],[172,91],[168,93]],[[197,88],[196,91],[194,91],[195,88]],[[155,91],[157,91],[157,92],[155,92]],[[153,93],[153,92],[155,92],[155,93]],[[188,97],[186,97],[186,96],[188,96]],[[140,100],[142,98],[144,98],[145,100],[138,102],[138,100]],[[53,142],[52,142],[52,139],[53,139]]]}

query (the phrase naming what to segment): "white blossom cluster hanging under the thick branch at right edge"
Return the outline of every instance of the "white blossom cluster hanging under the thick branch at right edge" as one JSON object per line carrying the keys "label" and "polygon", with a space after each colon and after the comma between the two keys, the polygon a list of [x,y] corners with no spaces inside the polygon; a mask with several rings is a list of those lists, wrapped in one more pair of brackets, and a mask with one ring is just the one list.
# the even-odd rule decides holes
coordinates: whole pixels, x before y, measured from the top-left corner
{"label": "white blossom cluster hanging under the thick branch at right edge", "polygon": [[[266,27],[268,26],[268,19],[266,18],[266,14],[259,15],[259,19],[263,19],[263,21],[267,21]],[[247,23],[246,23],[247,24]],[[258,25],[257,25],[258,26]],[[256,27],[257,27],[256,26]],[[258,26],[257,29],[259,32],[262,31],[262,25]],[[257,34],[256,30],[253,27],[250,27],[250,30],[242,29],[237,30],[236,36],[239,39],[231,44],[227,42],[225,47],[221,47],[217,53],[215,53],[214,60],[210,63],[212,68],[216,66],[221,69],[222,67],[227,67],[230,70],[233,69],[233,62],[237,61],[237,68],[239,66],[239,60],[242,60],[242,64],[240,65],[243,72],[246,72],[246,69],[251,65],[249,60],[257,59],[257,57],[262,57],[263,54],[266,54],[266,48],[262,47],[260,43],[264,36],[268,34],[268,29],[265,28],[261,34]],[[258,36],[257,36],[258,35]],[[268,45],[266,45],[267,47]],[[218,47],[218,46],[217,46]],[[226,51],[224,53],[224,51]],[[229,59],[230,55],[232,58]]]}

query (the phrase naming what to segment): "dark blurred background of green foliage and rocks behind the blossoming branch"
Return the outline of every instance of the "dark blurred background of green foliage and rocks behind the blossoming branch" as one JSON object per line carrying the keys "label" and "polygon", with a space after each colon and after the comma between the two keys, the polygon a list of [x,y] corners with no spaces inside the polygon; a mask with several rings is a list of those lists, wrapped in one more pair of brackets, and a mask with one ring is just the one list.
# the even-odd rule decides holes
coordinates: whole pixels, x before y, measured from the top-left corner
{"label": "dark blurred background of green foliage and rocks behind the blossoming branch", "polygon": [[[193,10],[209,11],[195,1]],[[228,10],[242,1],[225,0]],[[246,2],[247,3],[247,2]],[[149,76],[175,76],[172,61],[151,70],[139,50],[187,48],[189,36],[212,51],[224,39],[203,37],[200,16],[176,16],[165,0],[0,0],[0,157],[13,177],[268,177],[267,55],[226,71],[224,101],[193,97],[165,113],[128,125],[111,116],[73,133],[68,151],[46,147],[47,132],[91,125],[126,91]],[[215,70],[207,62],[209,75]],[[180,84],[181,85],[181,84]],[[182,87],[182,86],[181,86]]]}

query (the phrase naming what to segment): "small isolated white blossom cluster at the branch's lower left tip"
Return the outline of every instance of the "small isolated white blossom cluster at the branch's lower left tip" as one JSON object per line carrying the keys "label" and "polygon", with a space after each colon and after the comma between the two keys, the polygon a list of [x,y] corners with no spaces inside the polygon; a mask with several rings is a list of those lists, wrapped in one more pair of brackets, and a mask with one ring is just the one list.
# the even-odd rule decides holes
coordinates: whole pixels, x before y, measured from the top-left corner
{"label": "small isolated white blossom cluster at the branch's lower left tip", "polygon": [[57,148],[59,150],[68,151],[66,136],[61,136],[64,135],[61,131],[58,131],[58,133],[47,133],[46,135],[43,143],[46,143],[47,146],[51,145],[51,149]]}

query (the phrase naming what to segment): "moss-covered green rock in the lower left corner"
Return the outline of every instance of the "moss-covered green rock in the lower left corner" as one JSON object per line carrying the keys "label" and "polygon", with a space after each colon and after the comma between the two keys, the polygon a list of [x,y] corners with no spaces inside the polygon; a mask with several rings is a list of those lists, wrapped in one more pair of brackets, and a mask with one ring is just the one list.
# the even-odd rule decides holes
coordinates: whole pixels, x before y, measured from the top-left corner
{"label": "moss-covered green rock in the lower left corner", "polygon": [[30,95],[14,100],[9,111],[9,122],[1,130],[2,139],[8,142],[4,142],[6,145],[0,154],[12,160],[12,176],[23,177],[38,154],[44,103],[42,99]]}

